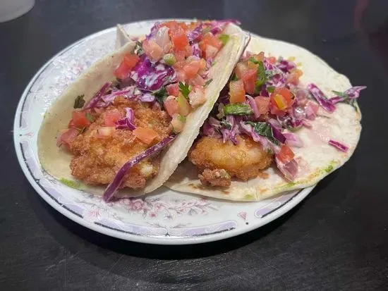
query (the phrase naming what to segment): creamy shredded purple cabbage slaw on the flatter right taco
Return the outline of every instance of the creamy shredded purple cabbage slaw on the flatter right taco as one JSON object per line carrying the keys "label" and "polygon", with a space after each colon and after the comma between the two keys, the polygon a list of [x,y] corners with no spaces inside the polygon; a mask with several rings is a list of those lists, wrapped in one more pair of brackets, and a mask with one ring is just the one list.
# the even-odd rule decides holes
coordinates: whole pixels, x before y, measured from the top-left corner
{"label": "creamy shredded purple cabbage slaw on the flatter right taco", "polygon": [[[245,59],[248,59],[249,56],[250,54],[247,52]],[[351,104],[351,101],[354,101],[359,97],[360,91],[366,88],[365,86],[351,87],[342,93],[341,96],[328,99],[313,83],[309,84],[307,89],[303,89],[302,87],[298,87],[287,82],[287,77],[291,74],[291,70],[296,68],[295,63],[292,61],[279,58],[277,63],[272,64],[265,59],[263,64],[265,66],[268,79],[267,82],[262,85],[259,95],[269,97],[270,93],[268,92],[268,87],[286,87],[291,90],[295,97],[293,106],[286,113],[286,116],[277,116],[277,120],[271,118],[267,121],[267,123],[271,126],[272,136],[274,139],[277,140],[279,144],[288,144],[291,147],[303,147],[303,142],[298,135],[293,132],[284,132],[284,129],[296,131],[302,127],[311,128],[312,124],[310,122],[315,120],[317,117],[319,106],[329,113],[332,113],[336,109],[334,104],[342,101],[348,101]],[[250,116],[226,117],[223,115],[217,115],[219,116],[219,119],[222,120],[217,120],[216,118],[211,117],[205,122],[202,128],[202,134],[222,138],[223,142],[231,140],[234,144],[238,143],[236,135],[239,133],[249,135],[255,142],[260,142],[263,148],[272,150],[275,154],[275,161],[279,171],[284,174],[286,179],[293,180],[296,178],[298,173],[298,163],[295,159],[291,160],[289,163],[282,163],[276,157],[276,154],[280,150],[279,145],[274,144],[274,142],[269,140],[267,137],[259,135],[255,132],[252,125],[246,123],[246,120],[260,120],[260,113],[257,110],[257,106],[255,106],[255,100],[253,97],[250,95],[245,95],[245,97],[245,103],[253,109],[253,114]],[[220,93],[219,99],[215,104],[215,108],[217,108],[219,104],[229,104],[228,92],[225,89]],[[236,118],[239,119],[236,120]],[[335,140],[329,140],[329,144],[336,147],[339,151],[346,152],[348,150],[346,145]]]}

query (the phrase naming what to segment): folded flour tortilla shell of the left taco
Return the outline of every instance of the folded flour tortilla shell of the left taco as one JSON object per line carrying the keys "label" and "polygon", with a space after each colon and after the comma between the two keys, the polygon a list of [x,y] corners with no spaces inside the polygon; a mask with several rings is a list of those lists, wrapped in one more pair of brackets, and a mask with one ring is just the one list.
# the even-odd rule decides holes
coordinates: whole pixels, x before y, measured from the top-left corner
{"label": "folded flour tortilla shell of the left taco", "polygon": [[[236,25],[229,24],[226,26],[224,33],[230,35],[229,41],[219,51],[214,60],[214,66],[209,70],[208,76],[212,78],[212,82],[205,89],[205,104],[187,116],[183,131],[177,135],[168,149],[162,151],[157,176],[150,179],[144,189],[134,191],[124,188],[116,194],[117,197],[135,197],[156,190],[175,171],[178,163],[186,158],[191,144],[198,136],[202,123],[212,110],[219,92],[226,85],[229,75],[231,75],[234,66],[243,53],[246,37],[242,30]],[[121,39],[116,45],[120,47],[123,43],[125,41],[123,42],[123,39]],[[105,82],[116,80],[113,74],[114,69],[119,65],[123,56],[133,52],[134,49],[135,42],[130,41],[117,51],[101,58],[75,80],[47,111],[38,134],[38,156],[44,170],[54,178],[62,179],[68,185],[80,185],[71,175],[69,167],[71,154],[56,146],[56,137],[59,135],[60,130],[67,128],[68,121],[71,120],[75,97],[84,94],[84,99],[87,102]],[[106,185],[104,187],[92,187],[81,184],[80,187],[87,192],[102,194]]]}

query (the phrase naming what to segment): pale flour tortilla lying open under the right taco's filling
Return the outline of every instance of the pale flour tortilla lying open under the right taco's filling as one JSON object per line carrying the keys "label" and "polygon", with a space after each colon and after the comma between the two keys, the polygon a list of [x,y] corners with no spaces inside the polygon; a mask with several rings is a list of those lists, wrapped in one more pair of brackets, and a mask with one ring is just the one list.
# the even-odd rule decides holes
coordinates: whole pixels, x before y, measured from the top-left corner
{"label": "pale flour tortilla lying open under the right taco's filling", "polygon": [[[295,58],[294,62],[303,71],[301,84],[303,87],[310,82],[315,83],[329,97],[334,96],[332,90],[340,92],[351,87],[346,76],[337,73],[319,57],[301,47],[286,42],[262,37],[252,37],[248,51],[266,55]],[[342,166],[353,154],[361,132],[361,113],[348,104],[336,104],[337,110],[330,114],[320,109],[319,113],[327,117],[317,117],[313,128],[303,128],[296,132],[301,137],[304,146],[293,147],[299,173],[293,182],[283,178],[275,165],[264,171],[267,178],[255,178],[243,182],[232,180],[228,188],[205,187],[198,179],[198,170],[189,161],[181,163],[177,171],[165,183],[167,187],[181,192],[201,194],[203,196],[238,201],[258,201],[275,194],[296,190],[315,185]],[[346,153],[327,144],[329,140],[336,140],[349,147]]]}

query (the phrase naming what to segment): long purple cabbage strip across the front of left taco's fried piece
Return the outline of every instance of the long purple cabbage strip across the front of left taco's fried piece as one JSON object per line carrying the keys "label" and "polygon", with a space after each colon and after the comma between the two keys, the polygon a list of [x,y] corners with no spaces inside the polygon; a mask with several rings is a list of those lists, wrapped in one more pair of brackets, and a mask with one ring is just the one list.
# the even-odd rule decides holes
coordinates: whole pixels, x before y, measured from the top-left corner
{"label": "long purple cabbage strip across the front of left taco's fried piece", "polygon": [[104,201],[109,202],[109,200],[114,197],[114,194],[116,194],[117,190],[119,190],[119,188],[121,187],[124,176],[133,166],[135,166],[137,163],[147,158],[148,156],[151,156],[152,154],[161,151],[164,147],[166,147],[167,144],[172,142],[175,137],[175,135],[170,135],[169,137],[166,137],[164,140],[158,142],[157,144],[154,144],[152,147],[138,154],[138,156],[134,156],[132,159],[124,163],[120,170],[116,173],[116,176],[114,177],[113,181],[108,185],[107,189],[105,190]]}

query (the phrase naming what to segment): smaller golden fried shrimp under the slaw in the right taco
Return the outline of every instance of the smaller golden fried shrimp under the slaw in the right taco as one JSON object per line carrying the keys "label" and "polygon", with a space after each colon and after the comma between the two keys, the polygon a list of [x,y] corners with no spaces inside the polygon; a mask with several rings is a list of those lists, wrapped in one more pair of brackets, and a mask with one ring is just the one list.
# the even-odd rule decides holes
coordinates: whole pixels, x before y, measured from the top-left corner
{"label": "smaller golden fried shrimp under the slaw in the right taco", "polygon": [[265,151],[262,145],[254,142],[251,137],[238,135],[237,140],[238,144],[235,145],[231,141],[224,143],[215,137],[201,137],[194,144],[188,159],[202,173],[199,177],[202,184],[209,182],[211,185],[217,185],[223,177],[222,183],[226,185],[226,175],[221,175],[220,169],[231,177],[246,181],[257,177],[260,171],[272,163],[272,154]]}

